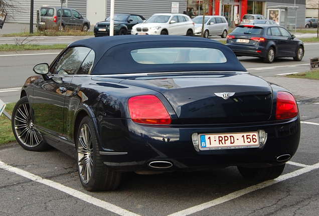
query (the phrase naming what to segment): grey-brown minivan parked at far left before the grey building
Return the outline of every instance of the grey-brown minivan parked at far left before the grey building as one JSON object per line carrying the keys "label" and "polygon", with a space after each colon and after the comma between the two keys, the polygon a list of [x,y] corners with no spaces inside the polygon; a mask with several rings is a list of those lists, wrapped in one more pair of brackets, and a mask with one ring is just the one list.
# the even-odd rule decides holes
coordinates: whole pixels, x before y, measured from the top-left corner
{"label": "grey-brown minivan parked at far left before the grey building", "polygon": [[62,7],[62,21],[60,17],[61,7],[41,7],[40,20],[38,20],[39,22],[37,21],[37,27],[39,30],[55,28],[61,31],[66,28],[87,31],[90,28],[90,21],[74,8]]}

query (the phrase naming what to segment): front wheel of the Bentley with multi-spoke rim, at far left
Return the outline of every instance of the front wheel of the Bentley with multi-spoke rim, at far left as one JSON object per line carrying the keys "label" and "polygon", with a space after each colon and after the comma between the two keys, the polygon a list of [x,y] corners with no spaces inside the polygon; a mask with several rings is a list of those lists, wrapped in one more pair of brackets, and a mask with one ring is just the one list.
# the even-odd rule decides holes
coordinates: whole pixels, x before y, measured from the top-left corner
{"label": "front wheel of the Bentley with multi-spoke rim, at far left", "polygon": [[51,147],[34,126],[27,96],[18,100],[13,109],[12,130],[18,143],[26,150],[44,151]]}

